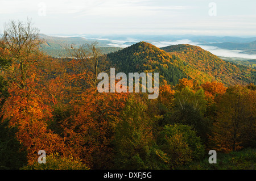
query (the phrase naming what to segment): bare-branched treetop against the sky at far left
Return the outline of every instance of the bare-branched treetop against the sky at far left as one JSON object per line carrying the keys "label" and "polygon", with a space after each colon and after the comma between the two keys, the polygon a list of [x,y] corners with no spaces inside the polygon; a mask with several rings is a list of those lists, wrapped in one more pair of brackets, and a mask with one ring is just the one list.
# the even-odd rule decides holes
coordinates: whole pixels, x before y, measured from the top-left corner
{"label": "bare-branched treetop against the sky at far left", "polygon": [[26,23],[12,20],[5,24],[0,41],[0,69],[20,88],[26,86],[31,66],[40,60],[42,43],[39,30],[32,27],[30,19]]}

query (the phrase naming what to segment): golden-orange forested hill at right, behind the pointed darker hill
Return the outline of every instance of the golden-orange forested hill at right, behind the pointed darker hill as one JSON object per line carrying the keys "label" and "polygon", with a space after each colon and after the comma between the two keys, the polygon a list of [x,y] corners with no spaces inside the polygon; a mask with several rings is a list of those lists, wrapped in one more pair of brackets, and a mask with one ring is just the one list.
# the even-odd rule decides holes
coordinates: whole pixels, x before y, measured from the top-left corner
{"label": "golden-orange forested hill at right, behind the pointed darker hill", "polygon": [[225,85],[255,83],[254,69],[224,61],[200,47],[180,44],[161,49],[184,62],[184,71],[193,79],[216,80]]}

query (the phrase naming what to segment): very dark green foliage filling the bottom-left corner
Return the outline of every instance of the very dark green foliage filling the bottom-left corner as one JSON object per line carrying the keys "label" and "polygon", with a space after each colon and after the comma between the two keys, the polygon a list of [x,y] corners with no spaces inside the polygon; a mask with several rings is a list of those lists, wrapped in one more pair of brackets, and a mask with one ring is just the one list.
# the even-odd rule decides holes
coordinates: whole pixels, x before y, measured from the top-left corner
{"label": "very dark green foliage filling the bottom-left corner", "polygon": [[15,127],[9,128],[9,121],[0,120],[0,170],[19,169],[27,163],[27,153],[16,140]]}

